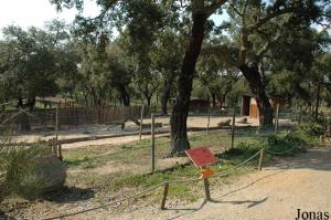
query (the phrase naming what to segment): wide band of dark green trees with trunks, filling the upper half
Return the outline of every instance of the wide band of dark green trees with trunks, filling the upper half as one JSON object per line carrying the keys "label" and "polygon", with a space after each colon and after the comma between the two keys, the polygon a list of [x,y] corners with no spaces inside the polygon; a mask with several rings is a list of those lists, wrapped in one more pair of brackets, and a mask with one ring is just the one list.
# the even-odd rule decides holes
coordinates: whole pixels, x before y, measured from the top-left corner
{"label": "wide band of dark green trees with trunks, filling the upper half", "polygon": [[[58,8],[83,0],[52,0]],[[330,6],[317,1],[137,0],[96,1],[100,13],[44,30],[9,27],[0,42],[0,98],[67,95],[86,105],[151,105],[171,109],[171,154],[188,149],[186,118],[194,81],[215,106],[246,82],[260,124],[273,124],[270,96],[318,115],[330,93]],[[211,19],[223,15],[223,22]],[[312,24],[324,27],[316,31]],[[243,80],[245,77],[245,80]],[[243,86],[242,86],[243,87]],[[313,107],[314,106],[314,107]],[[312,111],[313,109],[313,111]]]}

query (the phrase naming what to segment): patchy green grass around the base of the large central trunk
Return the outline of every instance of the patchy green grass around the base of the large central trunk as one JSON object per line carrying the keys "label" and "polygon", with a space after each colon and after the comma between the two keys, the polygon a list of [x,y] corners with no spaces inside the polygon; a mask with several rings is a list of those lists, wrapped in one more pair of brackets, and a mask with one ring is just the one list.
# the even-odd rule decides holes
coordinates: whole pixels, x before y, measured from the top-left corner
{"label": "patchy green grass around the base of the large central trunk", "polygon": [[[218,163],[211,166],[215,172],[223,172],[233,169],[238,164],[248,159],[261,148],[277,154],[277,156],[292,156],[297,153],[303,151],[303,147],[307,144],[317,142],[316,127],[313,130],[309,130],[309,126],[298,127],[291,130],[282,130],[277,134],[268,134],[267,132],[256,133],[256,130],[238,130],[235,137],[235,147],[228,149],[231,144],[231,135],[227,133],[210,133],[210,134],[193,134],[190,135],[190,143],[192,147],[206,146],[218,147],[224,146],[226,151],[218,156]],[[160,137],[156,140],[157,158],[164,156],[169,149],[169,138]],[[290,149],[290,150],[289,150]],[[137,174],[138,168],[149,167],[150,163],[150,140],[143,139],[142,142],[130,143],[124,146],[114,146],[109,153],[104,153],[99,149],[89,148],[88,150],[73,149],[64,154],[65,161],[68,167],[81,167],[84,169],[90,169],[100,167],[109,161],[119,163],[121,165],[128,165],[134,167],[131,172],[115,172],[109,175],[85,175],[73,176],[81,184],[86,187],[98,189],[100,191],[122,191],[131,190],[134,192],[147,189],[151,186],[159,185],[166,180],[179,180],[179,179],[192,179],[199,177],[199,169],[193,165],[179,166],[170,171],[156,172],[153,175]],[[235,175],[247,174],[257,168],[258,156],[245,165],[232,172],[229,177]],[[265,155],[264,164],[268,164],[275,160],[275,156],[271,154]],[[137,170],[135,169],[137,167]],[[82,176],[83,175],[83,176]],[[84,176],[85,175],[85,176]],[[231,178],[215,178],[212,182],[231,184]],[[189,184],[171,184],[169,189],[170,198],[180,198],[185,201],[194,201],[201,198],[203,195],[202,181],[189,182]],[[162,190],[156,192],[156,199],[160,199]]]}

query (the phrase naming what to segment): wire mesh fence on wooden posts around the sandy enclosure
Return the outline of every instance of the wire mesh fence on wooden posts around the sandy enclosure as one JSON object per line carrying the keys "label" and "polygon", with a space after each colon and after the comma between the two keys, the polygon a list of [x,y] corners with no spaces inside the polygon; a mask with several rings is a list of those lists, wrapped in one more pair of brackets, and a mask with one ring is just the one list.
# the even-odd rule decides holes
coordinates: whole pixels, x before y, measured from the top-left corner
{"label": "wire mesh fence on wooden posts around the sandy enclosure", "polygon": [[64,148],[65,160],[73,160],[73,155],[81,154],[75,157],[85,167],[110,163],[113,168],[120,168],[125,164],[140,172],[188,163],[188,158],[168,158],[174,146],[204,146],[214,153],[222,153],[243,143],[258,143],[267,135],[297,126],[303,118],[298,113],[280,111],[278,116],[275,115],[278,127],[271,125],[260,128],[258,118],[242,116],[239,112],[238,108],[206,108],[188,115],[153,114],[152,121],[148,107],[143,111],[140,106],[74,107],[17,111],[1,114],[0,117],[1,135],[11,130],[17,142],[35,143],[56,138]]}

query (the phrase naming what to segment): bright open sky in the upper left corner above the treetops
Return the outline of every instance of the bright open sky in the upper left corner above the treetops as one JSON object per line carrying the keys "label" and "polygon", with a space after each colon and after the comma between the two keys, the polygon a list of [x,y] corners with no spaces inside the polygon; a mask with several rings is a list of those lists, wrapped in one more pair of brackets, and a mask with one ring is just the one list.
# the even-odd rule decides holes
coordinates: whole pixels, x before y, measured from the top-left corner
{"label": "bright open sky in the upper left corner above the treetops", "polygon": [[[86,1],[84,15],[96,15],[99,11],[95,1]],[[0,29],[17,24],[26,29],[29,27],[43,28],[45,21],[60,19],[72,22],[77,11],[64,9],[57,12],[55,6],[49,0],[0,0]]]}

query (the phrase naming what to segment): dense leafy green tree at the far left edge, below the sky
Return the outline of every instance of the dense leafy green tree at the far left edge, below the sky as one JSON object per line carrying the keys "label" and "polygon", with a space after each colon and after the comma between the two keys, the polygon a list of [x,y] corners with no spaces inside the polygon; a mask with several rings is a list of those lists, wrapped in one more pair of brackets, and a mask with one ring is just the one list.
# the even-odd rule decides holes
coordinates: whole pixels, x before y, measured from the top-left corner
{"label": "dense leafy green tree at the far left edge, below the sky", "polygon": [[[53,23],[49,30],[19,27],[3,30],[1,42],[1,83],[4,88],[3,99],[15,98],[18,106],[33,108],[36,96],[55,95],[58,92],[56,77],[68,67],[65,63],[63,41],[68,38],[60,32],[61,23]],[[67,60],[67,62],[72,62]]]}

